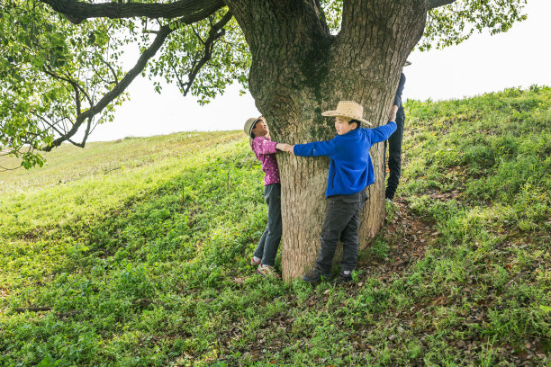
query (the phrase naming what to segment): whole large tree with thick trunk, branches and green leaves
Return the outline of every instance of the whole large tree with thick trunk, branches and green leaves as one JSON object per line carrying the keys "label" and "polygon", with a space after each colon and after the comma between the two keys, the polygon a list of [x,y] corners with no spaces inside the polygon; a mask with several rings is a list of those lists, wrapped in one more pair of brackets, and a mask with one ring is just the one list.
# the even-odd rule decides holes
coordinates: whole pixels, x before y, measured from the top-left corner
{"label": "whole large tree with thick trunk, branches and green leaves", "polygon": [[[526,0],[0,0],[1,154],[41,166],[41,151],[84,147],[113,120],[140,74],[176,83],[208,103],[238,82],[255,98],[273,139],[330,139],[321,112],[339,100],[386,117],[415,47],[442,48],[474,32],[507,31]],[[139,48],[132,65],[125,52]],[[450,70],[453,72],[453,70]],[[235,112],[239,113],[239,112]],[[248,116],[243,116],[243,121]],[[149,121],[155,123],[155,121]],[[362,213],[366,244],[384,220],[381,145]],[[279,155],[283,273],[301,275],[319,247],[326,158]]]}

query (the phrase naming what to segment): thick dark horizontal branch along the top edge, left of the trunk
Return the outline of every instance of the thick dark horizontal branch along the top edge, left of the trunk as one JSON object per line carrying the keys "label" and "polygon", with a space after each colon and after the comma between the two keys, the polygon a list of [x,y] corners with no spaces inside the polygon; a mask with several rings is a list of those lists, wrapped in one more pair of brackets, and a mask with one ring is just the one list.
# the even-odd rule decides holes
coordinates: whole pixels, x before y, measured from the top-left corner
{"label": "thick dark horizontal branch along the top edge, left of the trunk", "polygon": [[201,21],[224,6],[222,0],[179,0],[168,4],[102,3],[90,4],[76,0],[40,0],[53,10],[78,24],[87,18],[182,18],[190,24]]}

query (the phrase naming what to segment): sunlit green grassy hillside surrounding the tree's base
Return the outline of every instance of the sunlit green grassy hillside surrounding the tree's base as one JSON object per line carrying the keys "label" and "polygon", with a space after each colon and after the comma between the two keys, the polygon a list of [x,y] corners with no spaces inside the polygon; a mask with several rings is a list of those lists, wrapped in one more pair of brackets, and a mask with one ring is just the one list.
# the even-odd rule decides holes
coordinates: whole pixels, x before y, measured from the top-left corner
{"label": "sunlit green grassy hillside surrounding the tree's base", "polygon": [[239,131],[0,174],[0,365],[551,365],[551,89],[407,114],[397,201],[340,287],[248,265],[266,204]]}

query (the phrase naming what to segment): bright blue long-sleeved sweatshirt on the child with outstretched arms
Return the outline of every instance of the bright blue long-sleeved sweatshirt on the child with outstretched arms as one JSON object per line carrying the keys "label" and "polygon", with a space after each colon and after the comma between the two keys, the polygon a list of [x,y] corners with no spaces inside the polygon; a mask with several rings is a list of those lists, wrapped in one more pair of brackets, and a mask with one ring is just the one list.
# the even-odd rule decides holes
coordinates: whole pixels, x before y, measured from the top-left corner
{"label": "bright blue long-sleeved sweatshirt on the child with outstretched arms", "polygon": [[325,196],[361,192],[375,182],[369,148],[384,141],[396,130],[390,121],[375,129],[355,129],[328,141],[314,141],[294,146],[294,155],[330,157],[330,172]]}

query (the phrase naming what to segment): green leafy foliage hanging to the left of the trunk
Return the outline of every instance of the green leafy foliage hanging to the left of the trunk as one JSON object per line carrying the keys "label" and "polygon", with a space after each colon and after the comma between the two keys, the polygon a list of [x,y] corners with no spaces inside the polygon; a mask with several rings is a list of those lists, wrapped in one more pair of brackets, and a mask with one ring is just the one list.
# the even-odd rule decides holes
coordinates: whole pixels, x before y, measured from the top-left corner
{"label": "green leafy foliage hanging to the left of the trunk", "polygon": [[[67,134],[81,113],[95,108],[122,81],[133,67],[123,63],[122,55],[147,49],[155,37],[151,31],[166,23],[91,19],[76,25],[40,1],[0,0],[0,7],[0,48],[5,54],[0,59],[0,147],[18,158],[17,166],[27,169],[43,165],[39,151]],[[221,14],[193,26],[176,26],[161,56],[143,72],[155,81],[158,92],[158,78],[177,80],[182,87],[183,76],[206,52],[204,39]],[[200,97],[200,103],[209,103],[234,81],[246,85],[247,44],[235,21],[224,31],[226,36],[214,42],[210,61],[191,85],[191,94]],[[127,94],[115,98],[80,130],[112,121],[115,106],[126,98]]]}

